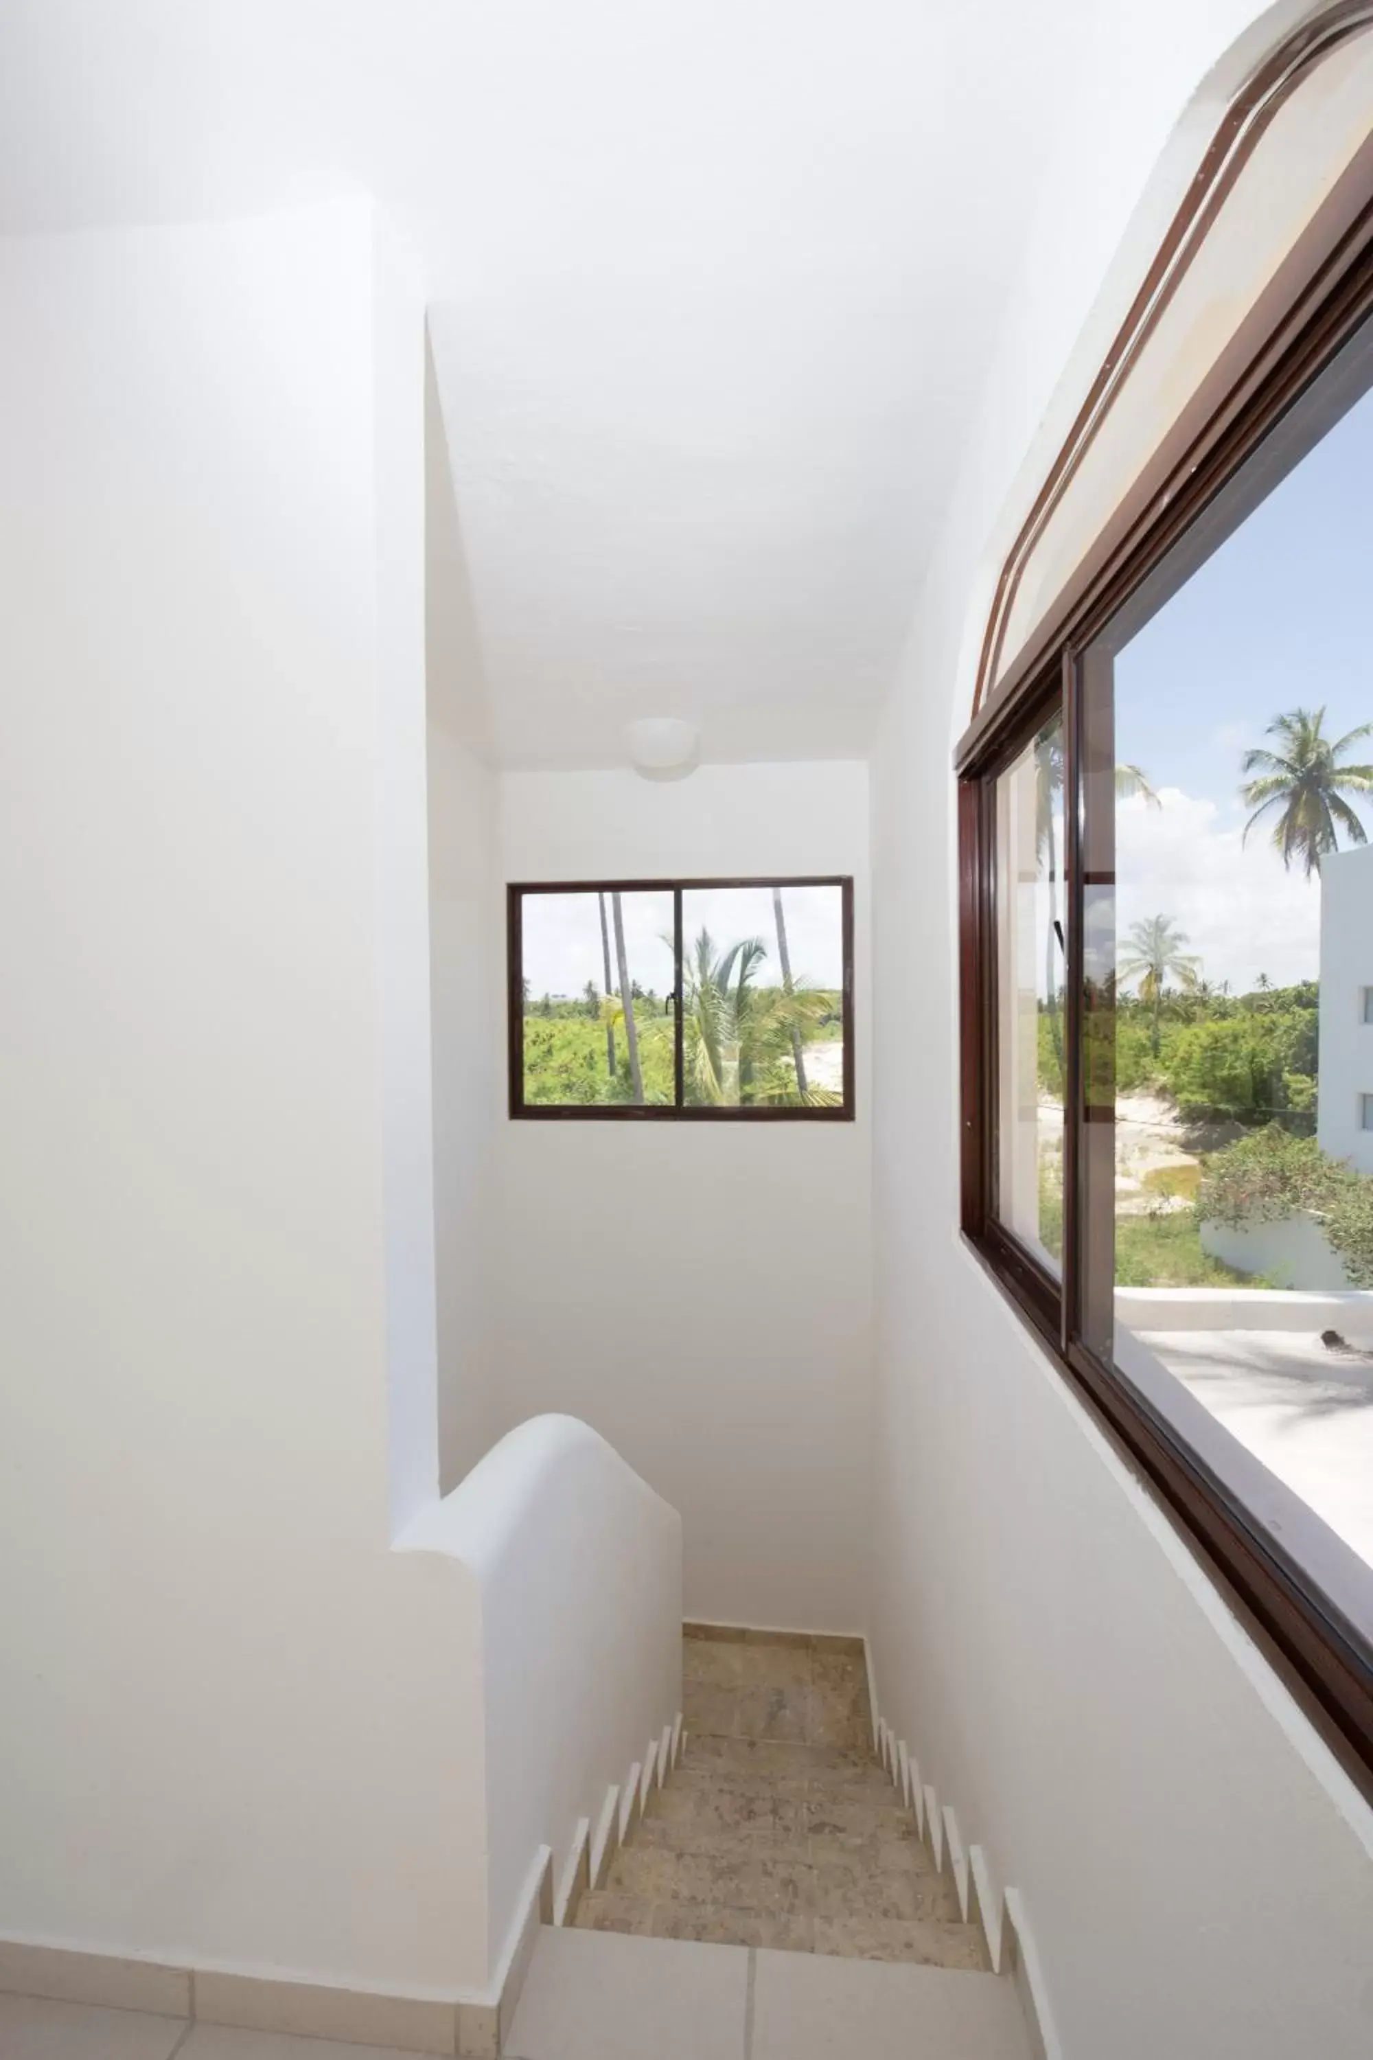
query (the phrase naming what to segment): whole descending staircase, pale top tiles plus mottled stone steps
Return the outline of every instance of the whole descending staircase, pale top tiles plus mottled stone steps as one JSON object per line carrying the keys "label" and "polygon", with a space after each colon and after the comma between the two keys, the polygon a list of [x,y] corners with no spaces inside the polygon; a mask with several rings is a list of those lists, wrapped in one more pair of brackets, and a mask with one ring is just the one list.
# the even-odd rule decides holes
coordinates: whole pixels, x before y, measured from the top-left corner
{"label": "whole descending staircase, pale top tiles plus mottled stone steps", "polygon": [[862,1646],[688,1627],[683,1677],[681,1761],[541,1930],[506,2060],[1029,2060],[873,1753]]}

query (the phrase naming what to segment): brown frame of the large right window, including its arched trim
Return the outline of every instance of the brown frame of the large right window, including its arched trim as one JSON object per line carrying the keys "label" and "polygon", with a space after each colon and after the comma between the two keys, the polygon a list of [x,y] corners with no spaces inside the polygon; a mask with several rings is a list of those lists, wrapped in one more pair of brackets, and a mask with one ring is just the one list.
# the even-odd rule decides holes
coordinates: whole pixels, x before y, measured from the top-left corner
{"label": "brown frame of the large right window, including its arched trim", "polygon": [[[1105,542],[1075,591],[1044,616],[1029,647],[998,678],[1015,591],[1037,536],[1062,499],[1132,363],[1159,321],[1171,286],[1204,247],[1208,227],[1282,99],[1373,8],[1344,4],[1303,25],[1254,74],[1227,111],[1200,173],[1116,336],[1107,358],[1021,527],[998,579],[986,624],[974,721],[959,742],[959,1014],[961,1014],[961,1230],[996,1285],[1033,1327],[1064,1378],[1120,1454],[1161,1502],[1177,1531],[1272,1664],[1373,1798],[1373,1648],[1309,1574],[1256,1520],[1235,1483],[1219,1473],[1163,1413],[1122,1380],[1110,1353],[1085,1335],[1085,1302],[1099,1255],[1083,1211],[1089,1135],[1081,1077],[1083,1044],[1083,764],[1085,684],[1081,653],[1140,587],[1192,521],[1235,478],[1293,402],[1373,315],[1373,183],[1352,225],[1293,293],[1243,375],[1214,396],[1200,431],[1124,534]],[[1064,723],[1064,1228],[1054,1273],[996,1215],[996,779],[1062,713]],[[1114,1149],[1114,1147],[1112,1147]],[[1107,1283],[1110,1285],[1110,1283]]]}

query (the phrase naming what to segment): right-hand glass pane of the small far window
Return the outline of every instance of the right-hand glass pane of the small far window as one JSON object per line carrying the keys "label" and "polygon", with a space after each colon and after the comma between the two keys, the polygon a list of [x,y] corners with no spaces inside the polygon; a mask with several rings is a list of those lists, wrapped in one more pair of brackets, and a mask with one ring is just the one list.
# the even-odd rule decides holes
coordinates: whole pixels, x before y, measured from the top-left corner
{"label": "right-hand glass pane of the small far window", "polygon": [[842,888],[685,888],[681,950],[688,1108],[842,1106]]}

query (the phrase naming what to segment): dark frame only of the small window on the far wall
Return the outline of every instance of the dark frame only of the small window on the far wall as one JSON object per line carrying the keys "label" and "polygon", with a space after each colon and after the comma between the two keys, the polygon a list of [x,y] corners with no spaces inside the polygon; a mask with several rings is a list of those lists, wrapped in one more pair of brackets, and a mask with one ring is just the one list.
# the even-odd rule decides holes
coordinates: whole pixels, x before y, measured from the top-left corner
{"label": "dark frame only of the small window on the far wall", "polygon": [[[838,888],[844,954],[844,1092],[825,1106],[698,1106],[683,1098],[681,896],[729,888]],[[523,904],[527,894],[671,894],[675,989],[673,1102],[525,1102]],[[535,880],[506,886],[506,1053],[511,1117],[521,1123],[852,1123],[854,1121],[854,882],[852,873],[766,873],[751,880]]]}

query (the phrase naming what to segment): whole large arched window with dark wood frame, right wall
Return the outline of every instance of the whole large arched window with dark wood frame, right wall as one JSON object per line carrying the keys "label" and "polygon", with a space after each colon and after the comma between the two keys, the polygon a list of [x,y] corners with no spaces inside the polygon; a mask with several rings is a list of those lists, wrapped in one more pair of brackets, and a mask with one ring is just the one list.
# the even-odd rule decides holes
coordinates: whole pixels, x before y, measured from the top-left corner
{"label": "whole large arched window with dark wood frame, right wall", "polygon": [[1373,29],[1229,109],[957,754],[963,1232],[1373,1792]]}

